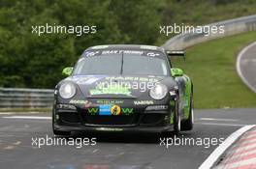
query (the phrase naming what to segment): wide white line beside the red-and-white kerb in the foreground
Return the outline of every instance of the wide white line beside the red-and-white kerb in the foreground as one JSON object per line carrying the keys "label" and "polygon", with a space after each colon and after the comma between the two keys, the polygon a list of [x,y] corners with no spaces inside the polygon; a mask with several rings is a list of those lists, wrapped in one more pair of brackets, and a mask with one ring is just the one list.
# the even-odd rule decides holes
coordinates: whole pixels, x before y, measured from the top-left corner
{"label": "wide white line beside the red-and-white kerb in the foreground", "polygon": [[255,127],[255,125],[240,127],[237,131],[233,132],[222,144],[220,144],[201,164],[199,169],[209,169],[216,162],[220,155],[222,155],[239,137],[241,134]]}

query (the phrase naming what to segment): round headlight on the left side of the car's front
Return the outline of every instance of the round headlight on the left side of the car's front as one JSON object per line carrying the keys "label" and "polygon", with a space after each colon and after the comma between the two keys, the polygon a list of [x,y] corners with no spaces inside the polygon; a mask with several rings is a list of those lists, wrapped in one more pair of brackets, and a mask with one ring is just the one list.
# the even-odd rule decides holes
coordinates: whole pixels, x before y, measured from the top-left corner
{"label": "round headlight on the left side of the car's front", "polygon": [[63,99],[71,99],[76,94],[76,86],[72,82],[64,82],[59,88],[59,95]]}

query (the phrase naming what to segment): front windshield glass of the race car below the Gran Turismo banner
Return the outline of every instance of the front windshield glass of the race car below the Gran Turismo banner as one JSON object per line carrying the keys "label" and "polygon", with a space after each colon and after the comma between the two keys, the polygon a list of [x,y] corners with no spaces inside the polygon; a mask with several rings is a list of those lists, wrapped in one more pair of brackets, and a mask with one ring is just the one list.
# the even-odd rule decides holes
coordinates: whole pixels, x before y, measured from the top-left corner
{"label": "front windshield glass of the race car below the Gran Turismo banner", "polygon": [[118,54],[83,57],[78,62],[74,74],[169,75],[169,71],[164,59]]}

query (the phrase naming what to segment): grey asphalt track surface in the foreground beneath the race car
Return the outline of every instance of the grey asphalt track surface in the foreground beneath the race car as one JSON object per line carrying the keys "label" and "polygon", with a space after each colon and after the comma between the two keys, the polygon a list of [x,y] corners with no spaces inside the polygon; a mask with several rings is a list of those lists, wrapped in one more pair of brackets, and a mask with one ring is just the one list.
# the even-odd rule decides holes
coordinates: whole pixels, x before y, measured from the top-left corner
{"label": "grey asphalt track surface in the foreground beneath the race car", "polygon": [[[32,119],[26,119],[31,116]],[[242,126],[256,124],[256,109],[196,110],[195,119],[194,130],[182,132],[179,138],[225,139]],[[80,149],[68,145],[32,146],[32,138],[46,138],[47,135],[53,137],[49,114],[0,114],[0,168],[193,169],[217,147],[173,145],[167,149],[160,146],[160,138],[174,138],[172,135],[121,134],[117,131],[76,134],[73,138],[97,138],[95,146]]]}

